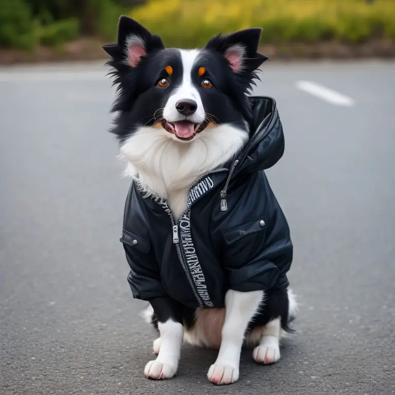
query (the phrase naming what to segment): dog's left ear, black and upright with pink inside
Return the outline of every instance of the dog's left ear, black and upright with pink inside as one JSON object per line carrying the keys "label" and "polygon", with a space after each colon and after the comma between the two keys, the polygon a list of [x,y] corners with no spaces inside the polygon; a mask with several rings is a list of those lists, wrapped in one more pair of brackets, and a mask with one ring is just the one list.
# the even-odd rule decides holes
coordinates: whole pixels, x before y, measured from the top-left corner
{"label": "dog's left ear, black and upright with pink inside", "polygon": [[129,16],[122,15],[118,21],[117,44],[102,47],[114,60],[125,60],[130,67],[137,67],[148,53],[165,48],[158,35],[151,34]]}

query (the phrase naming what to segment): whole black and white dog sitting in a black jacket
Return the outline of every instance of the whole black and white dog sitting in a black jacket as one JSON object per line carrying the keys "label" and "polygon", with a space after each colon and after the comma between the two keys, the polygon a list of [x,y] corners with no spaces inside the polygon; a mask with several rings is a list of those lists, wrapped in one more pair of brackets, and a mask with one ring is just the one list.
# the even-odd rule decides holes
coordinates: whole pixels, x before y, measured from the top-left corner
{"label": "whole black and white dog sitting in a black jacket", "polygon": [[113,133],[133,183],[121,241],[134,297],[159,330],[152,379],[172,378],[183,340],[219,348],[208,379],[239,378],[243,344],[261,364],[279,360],[296,303],[292,243],[263,172],[282,156],[275,101],[248,97],[266,60],[260,29],[165,48],[121,16],[106,45],[118,95]]}

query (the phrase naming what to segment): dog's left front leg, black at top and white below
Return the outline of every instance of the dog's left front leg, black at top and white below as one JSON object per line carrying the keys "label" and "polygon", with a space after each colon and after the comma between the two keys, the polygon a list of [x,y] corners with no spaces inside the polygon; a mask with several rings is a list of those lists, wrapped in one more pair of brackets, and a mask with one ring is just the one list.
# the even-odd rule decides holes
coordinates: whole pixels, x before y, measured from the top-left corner
{"label": "dog's left front leg, black at top and white below", "polygon": [[181,307],[170,297],[158,297],[150,301],[158,320],[160,349],[155,361],[150,361],[144,374],[150,379],[171,379],[178,367],[183,343]]}

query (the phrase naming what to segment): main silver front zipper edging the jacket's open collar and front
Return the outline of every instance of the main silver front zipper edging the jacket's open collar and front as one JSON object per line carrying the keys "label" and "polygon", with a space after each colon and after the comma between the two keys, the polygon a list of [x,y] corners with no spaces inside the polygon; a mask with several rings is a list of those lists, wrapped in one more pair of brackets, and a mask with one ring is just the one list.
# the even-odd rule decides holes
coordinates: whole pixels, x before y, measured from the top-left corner
{"label": "main silver front zipper edging the jacket's open collar and front", "polygon": [[[219,172],[225,171],[225,170],[228,170],[228,169],[224,167],[224,168],[221,168],[221,169],[217,169],[217,170],[213,170],[213,171],[208,171],[207,173],[204,173],[199,179],[197,179],[197,180],[188,188],[188,192],[187,192],[187,208],[184,210],[184,212],[181,214],[181,216],[179,216],[179,219],[181,219],[181,217],[182,217],[184,214],[186,214],[186,213],[188,213],[188,212],[190,213],[190,209],[191,209],[191,205],[192,205],[192,204],[190,203],[190,200],[188,199],[188,196],[189,196],[189,193],[190,193],[191,189],[192,189],[194,186],[196,186],[197,184],[199,184],[199,183],[202,181],[202,179],[205,178],[205,177],[207,177],[209,174],[219,173]],[[200,306],[200,307],[204,307],[204,303],[203,303],[201,297],[199,296],[199,293],[197,293],[197,290],[196,290],[196,288],[195,288],[195,286],[194,286],[194,284],[193,284],[192,275],[191,275],[191,273],[190,273],[190,271],[189,271],[189,267],[188,267],[188,264],[186,263],[186,259],[185,259],[185,256],[184,256],[184,251],[183,251],[183,249],[182,249],[182,243],[179,242],[179,241],[180,241],[180,237],[179,237],[179,233],[178,233],[178,229],[179,229],[179,226],[178,226],[178,225],[179,225],[179,219],[178,219],[177,222],[174,221],[173,213],[172,213],[172,211],[171,211],[171,209],[170,209],[170,206],[169,206],[167,200],[166,200],[166,199],[162,199],[162,201],[164,202],[164,204],[166,205],[166,207],[167,207],[167,209],[168,209],[168,210],[167,210],[167,213],[168,213],[168,215],[169,215],[169,217],[170,217],[170,220],[171,220],[172,235],[173,235],[172,238],[173,238],[173,243],[175,244],[175,248],[176,248],[176,250],[177,250],[178,259],[179,259],[179,261],[180,261],[180,263],[181,263],[181,265],[182,265],[182,267],[183,267],[183,269],[184,269],[184,272],[185,272],[185,274],[186,274],[186,276],[187,276],[189,285],[190,285],[191,288],[192,288],[193,294],[194,294],[194,296],[195,296],[197,302],[199,303],[199,306]]]}

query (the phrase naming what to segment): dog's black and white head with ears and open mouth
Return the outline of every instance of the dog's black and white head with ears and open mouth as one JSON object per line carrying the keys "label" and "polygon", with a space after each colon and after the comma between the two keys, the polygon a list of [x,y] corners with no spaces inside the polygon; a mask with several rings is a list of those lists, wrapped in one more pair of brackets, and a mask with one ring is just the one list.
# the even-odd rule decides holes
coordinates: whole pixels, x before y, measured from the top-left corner
{"label": "dog's black and white head with ears and open mouth", "polygon": [[103,47],[119,89],[113,132],[120,142],[143,127],[183,142],[221,124],[247,131],[247,92],[267,59],[257,53],[260,34],[252,28],[220,34],[202,49],[165,48],[157,35],[121,16],[117,44]]}

